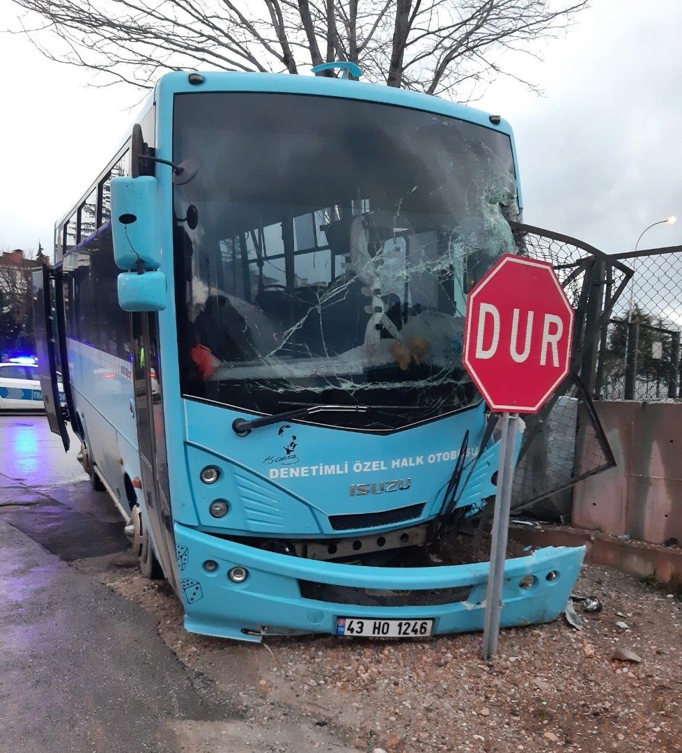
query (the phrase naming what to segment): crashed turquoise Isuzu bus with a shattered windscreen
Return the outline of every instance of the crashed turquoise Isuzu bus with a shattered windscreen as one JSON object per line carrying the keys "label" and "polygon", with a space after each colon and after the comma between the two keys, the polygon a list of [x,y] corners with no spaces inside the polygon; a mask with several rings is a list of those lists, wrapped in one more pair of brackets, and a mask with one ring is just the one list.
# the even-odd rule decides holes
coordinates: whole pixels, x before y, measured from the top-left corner
{"label": "crashed turquoise Isuzu bus with a shattered windscreen", "polygon": [[[434,544],[495,494],[464,304],[520,211],[500,117],[349,78],[158,81],[34,293],[50,426],[187,630],[483,626],[489,564]],[[507,560],[501,624],[555,618],[582,558]]]}

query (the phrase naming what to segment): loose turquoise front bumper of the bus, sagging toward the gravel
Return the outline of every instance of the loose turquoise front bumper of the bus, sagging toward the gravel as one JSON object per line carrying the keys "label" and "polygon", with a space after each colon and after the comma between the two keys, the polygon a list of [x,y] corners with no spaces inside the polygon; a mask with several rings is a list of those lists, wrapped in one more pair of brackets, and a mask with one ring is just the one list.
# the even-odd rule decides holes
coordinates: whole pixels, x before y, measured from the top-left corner
{"label": "loose turquoise front bumper of the bus, sagging toward the gravel", "polygon": [[[242,641],[333,634],[337,617],[432,618],[434,635],[483,630],[489,562],[429,568],[318,562],[237,544],[178,523],[175,541],[184,626],[192,633]],[[508,559],[501,626],[556,619],[580,574],[584,554],[585,547],[546,547]],[[230,579],[233,568],[247,571],[244,581]]]}

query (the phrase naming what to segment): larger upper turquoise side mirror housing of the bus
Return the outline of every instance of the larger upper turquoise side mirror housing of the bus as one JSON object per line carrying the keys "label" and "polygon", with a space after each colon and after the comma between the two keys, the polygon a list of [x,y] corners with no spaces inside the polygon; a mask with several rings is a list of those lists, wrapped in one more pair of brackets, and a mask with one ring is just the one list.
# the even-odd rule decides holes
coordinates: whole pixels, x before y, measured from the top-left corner
{"label": "larger upper turquoise side mirror housing of the bus", "polygon": [[111,178],[114,260],[120,270],[157,270],[161,241],[157,179]]}

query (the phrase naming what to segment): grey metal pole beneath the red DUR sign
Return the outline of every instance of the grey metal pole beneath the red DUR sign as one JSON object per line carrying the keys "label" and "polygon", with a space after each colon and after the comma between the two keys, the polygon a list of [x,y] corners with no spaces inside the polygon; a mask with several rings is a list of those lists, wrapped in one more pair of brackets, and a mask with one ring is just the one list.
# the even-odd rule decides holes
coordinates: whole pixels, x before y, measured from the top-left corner
{"label": "grey metal pole beneath the red DUR sign", "polygon": [[502,413],[498,484],[495,490],[490,570],[486,592],[486,612],[483,621],[483,658],[486,661],[498,653],[502,584],[504,582],[504,562],[507,558],[507,534],[509,532],[514,447],[518,420],[518,413]]}

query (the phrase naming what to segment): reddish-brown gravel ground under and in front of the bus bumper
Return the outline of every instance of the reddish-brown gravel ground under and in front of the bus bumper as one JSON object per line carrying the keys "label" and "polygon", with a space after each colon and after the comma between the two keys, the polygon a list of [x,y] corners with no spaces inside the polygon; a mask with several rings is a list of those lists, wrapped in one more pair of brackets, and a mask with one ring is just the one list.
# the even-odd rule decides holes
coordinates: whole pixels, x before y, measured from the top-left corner
{"label": "reddish-brown gravel ground under and in front of the bus bumper", "polygon": [[[245,721],[306,719],[369,753],[682,751],[682,604],[629,575],[584,566],[576,593],[597,596],[604,610],[583,614],[578,603],[582,632],[563,619],[504,630],[486,664],[480,633],[266,645],[195,636],[169,587],[131,563],[119,558],[108,585],[156,615],[182,662],[236,690]],[[641,663],[614,659],[618,648]]]}

